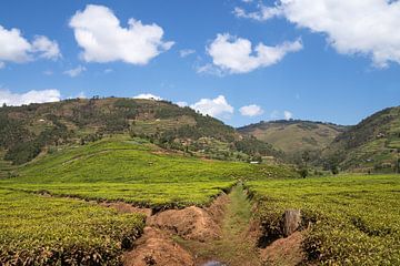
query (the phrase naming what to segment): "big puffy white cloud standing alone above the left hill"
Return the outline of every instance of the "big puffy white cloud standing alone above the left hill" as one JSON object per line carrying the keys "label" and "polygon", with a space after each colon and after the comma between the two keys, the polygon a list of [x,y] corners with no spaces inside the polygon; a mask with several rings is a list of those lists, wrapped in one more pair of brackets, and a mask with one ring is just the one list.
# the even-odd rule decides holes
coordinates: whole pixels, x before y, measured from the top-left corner
{"label": "big puffy white cloud standing alone above the left hill", "polygon": [[162,40],[161,27],[129,19],[128,28],[123,28],[112,10],[103,6],[88,4],[69,24],[87,62],[147,64],[173,45]]}

